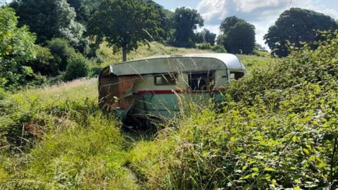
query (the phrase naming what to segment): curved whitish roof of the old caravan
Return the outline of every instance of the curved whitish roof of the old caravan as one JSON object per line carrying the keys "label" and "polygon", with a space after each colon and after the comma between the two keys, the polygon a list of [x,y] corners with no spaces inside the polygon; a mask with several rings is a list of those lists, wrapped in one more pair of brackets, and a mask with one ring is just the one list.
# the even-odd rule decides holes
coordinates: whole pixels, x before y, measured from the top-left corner
{"label": "curved whitish roof of the old caravan", "polygon": [[184,56],[153,56],[127,61],[104,68],[103,75],[147,75],[167,72],[201,70],[245,70],[237,56],[229,53],[187,54]]}

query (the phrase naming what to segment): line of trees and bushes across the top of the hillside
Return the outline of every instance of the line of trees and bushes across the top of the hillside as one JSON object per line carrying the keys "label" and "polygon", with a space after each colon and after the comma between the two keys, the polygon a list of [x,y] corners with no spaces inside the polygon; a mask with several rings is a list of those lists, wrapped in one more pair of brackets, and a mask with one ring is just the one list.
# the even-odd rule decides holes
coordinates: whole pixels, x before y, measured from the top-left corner
{"label": "line of trees and bushes across the top of the hillside", "polygon": [[[103,42],[113,52],[122,51],[123,61],[139,44],[153,41],[219,53],[264,50],[256,44],[255,27],[246,20],[225,18],[216,38],[209,30],[199,30],[204,19],[196,10],[181,7],[171,12],[152,0],[13,0],[0,10],[0,88],[4,89],[42,84],[49,77],[90,76],[90,60]],[[283,57],[289,46],[322,40],[319,31],[337,28],[327,15],[291,8],[264,39],[273,56]]]}

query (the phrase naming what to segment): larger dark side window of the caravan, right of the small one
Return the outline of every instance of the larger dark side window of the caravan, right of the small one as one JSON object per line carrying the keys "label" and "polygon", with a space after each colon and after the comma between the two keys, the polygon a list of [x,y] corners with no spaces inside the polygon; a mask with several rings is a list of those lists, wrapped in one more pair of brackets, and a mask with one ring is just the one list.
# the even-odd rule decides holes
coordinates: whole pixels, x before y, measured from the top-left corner
{"label": "larger dark side window of the caravan, right of the small one", "polygon": [[213,87],[213,72],[199,72],[189,74],[189,87],[194,91],[206,91]]}

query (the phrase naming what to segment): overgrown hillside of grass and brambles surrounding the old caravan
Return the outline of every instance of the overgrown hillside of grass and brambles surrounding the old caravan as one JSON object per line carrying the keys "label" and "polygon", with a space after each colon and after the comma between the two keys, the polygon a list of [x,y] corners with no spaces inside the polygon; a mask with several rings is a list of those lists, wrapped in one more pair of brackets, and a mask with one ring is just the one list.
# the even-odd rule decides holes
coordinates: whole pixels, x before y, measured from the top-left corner
{"label": "overgrown hillside of grass and brambles surrounding the old caravan", "polygon": [[[0,188],[337,186],[338,54],[332,49],[338,38],[283,60],[239,56],[249,75],[230,85],[223,105],[186,104],[187,114],[154,135],[128,132],[103,113],[96,79],[0,92]],[[138,56],[161,51],[198,50],[142,46]]]}

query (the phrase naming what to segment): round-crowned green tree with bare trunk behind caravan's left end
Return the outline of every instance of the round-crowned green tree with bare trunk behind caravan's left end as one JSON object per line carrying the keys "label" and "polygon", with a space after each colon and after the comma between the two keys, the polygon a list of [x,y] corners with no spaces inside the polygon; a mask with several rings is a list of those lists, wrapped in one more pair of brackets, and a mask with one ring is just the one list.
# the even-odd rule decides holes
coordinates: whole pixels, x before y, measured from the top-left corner
{"label": "round-crowned green tree with bare trunk behind caravan's left end", "polygon": [[88,33],[96,46],[106,40],[114,52],[136,50],[138,42],[158,39],[162,32],[160,16],[154,6],[141,0],[103,0],[88,23]]}

